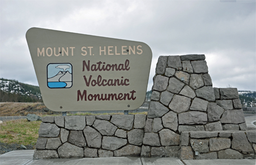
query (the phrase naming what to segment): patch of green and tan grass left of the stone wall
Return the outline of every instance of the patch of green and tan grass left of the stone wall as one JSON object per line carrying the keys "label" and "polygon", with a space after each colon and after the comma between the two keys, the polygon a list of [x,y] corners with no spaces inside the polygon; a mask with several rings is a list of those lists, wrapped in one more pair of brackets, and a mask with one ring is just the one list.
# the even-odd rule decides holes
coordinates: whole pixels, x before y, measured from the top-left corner
{"label": "patch of green and tan grass left of the stone wall", "polygon": [[42,121],[27,119],[4,121],[0,126],[0,139],[4,143],[36,144],[38,130]]}

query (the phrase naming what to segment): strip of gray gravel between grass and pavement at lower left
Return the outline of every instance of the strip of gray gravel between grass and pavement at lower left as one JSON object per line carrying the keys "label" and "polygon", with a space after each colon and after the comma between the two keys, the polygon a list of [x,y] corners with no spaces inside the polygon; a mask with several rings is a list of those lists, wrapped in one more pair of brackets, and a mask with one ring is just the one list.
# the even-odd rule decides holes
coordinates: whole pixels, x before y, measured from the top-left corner
{"label": "strip of gray gravel between grass and pavement at lower left", "polygon": [[[29,144],[29,145],[25,145],[27,150],[33,150],[33,145]],[[6,152],[10,152],[13,150],[24,150],[21,148],[20,144],[7,144],[7,143],[2,143],[0,142],[0,155],[6,153]]]}

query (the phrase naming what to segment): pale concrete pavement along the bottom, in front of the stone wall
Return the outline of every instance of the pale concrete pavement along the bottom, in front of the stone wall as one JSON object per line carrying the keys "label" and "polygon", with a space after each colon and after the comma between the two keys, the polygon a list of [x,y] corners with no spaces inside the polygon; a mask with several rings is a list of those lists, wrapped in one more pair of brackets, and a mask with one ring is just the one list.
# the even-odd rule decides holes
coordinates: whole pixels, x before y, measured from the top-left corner
{"label": "pale concrete pavement along the bottom, in front of the stone wall", "polygon": [[51,160],[32,160],[34,150],[11,151],[0,155],[1,165],[113,165],[113,164],[132,164],[132,165],[255,165],[255,160],[179,160],[176,157],[99,157],[99,158],[59,158]]}

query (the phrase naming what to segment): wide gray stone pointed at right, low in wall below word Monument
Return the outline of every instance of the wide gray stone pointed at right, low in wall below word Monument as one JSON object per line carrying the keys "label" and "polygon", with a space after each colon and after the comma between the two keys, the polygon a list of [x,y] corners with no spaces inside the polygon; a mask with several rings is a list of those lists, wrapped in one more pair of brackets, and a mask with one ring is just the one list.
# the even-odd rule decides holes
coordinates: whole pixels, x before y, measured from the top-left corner
{"label": "wide gray stone pointed at right, low in wall below word Monument", "polygon": [[116,150],[127,144],[127,140],[118,137],[103,136],[102,149]]}

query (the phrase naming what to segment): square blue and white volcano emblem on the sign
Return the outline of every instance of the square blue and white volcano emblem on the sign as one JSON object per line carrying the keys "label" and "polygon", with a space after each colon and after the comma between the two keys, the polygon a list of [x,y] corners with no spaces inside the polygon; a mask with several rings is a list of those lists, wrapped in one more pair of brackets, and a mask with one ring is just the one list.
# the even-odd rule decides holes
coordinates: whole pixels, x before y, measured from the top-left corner
{"label": "square blue and white volcano emblem on the sign", "polygon": [[48,88],[71,88],[73,72],[70,63],[50,63],[47,65]]}

